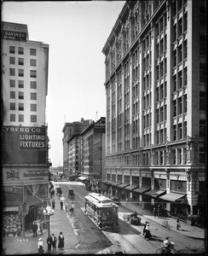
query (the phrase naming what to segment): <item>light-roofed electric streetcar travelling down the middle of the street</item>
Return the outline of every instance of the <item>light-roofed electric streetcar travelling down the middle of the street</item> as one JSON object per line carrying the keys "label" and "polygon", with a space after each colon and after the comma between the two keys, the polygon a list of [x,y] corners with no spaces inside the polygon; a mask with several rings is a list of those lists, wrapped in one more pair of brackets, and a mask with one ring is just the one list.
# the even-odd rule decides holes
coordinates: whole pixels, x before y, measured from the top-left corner
{"label": "light-roofed electric streetcar travelling down the middle of the street", "polygon": [[119,230],[118,205],[106,196],[97,193],[86,195],[84,212],[100,230]]}

